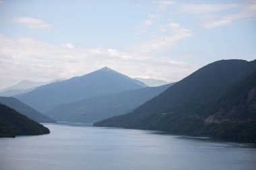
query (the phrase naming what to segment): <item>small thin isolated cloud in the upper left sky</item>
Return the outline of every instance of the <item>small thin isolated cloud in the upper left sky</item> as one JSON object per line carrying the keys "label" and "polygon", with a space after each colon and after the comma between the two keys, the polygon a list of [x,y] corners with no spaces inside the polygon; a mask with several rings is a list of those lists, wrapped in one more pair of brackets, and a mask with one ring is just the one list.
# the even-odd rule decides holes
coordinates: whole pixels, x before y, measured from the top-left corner
{"label": "small thin isolated cloud in the upper left sky", "polygon": [[53,25],[46,24],[40,19],[33,17],[18,17],[14,19],[15,22],[26,24],[30,29],[48,29],[53,28]]}

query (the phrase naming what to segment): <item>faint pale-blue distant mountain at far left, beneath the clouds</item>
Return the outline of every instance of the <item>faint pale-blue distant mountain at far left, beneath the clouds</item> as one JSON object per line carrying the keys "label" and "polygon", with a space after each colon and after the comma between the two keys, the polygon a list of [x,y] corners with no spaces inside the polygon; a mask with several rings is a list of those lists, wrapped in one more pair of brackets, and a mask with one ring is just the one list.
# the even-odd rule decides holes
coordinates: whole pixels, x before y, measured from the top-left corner
{"label": "faint pale-blue distant mountain at far left, beneath the clouds", "polygon": [[46,81],[46,82],[36,82],[36,81],[28,81],[24,80],[21,81],[20,83],[13,85],[11,87],[8,87],[6,89],[0,90],[0,96],[3,97],[12,97],[14,95],[20,95],[23,93],[28,93],[29,91],[32,91],[36,87],[39,87],[41,85],[46,85],[49,83],[54,83],[57,81],[62,81],[63,79],[55,79],[52,81]]}

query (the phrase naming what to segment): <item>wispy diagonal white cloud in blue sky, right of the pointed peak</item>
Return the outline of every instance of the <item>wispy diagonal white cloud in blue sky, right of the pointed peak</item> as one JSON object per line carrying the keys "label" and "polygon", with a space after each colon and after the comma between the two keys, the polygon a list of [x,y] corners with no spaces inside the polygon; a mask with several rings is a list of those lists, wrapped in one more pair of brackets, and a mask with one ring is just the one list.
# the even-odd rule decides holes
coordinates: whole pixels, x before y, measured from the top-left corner
{"label": "wispy diagonal white cloud in blue sky, right of the pointed peak", "polygon": [[156,36],[146,42],[131,44],[128,46],[129,50],[136,52],[152,52],[154,50],[165,50],[172,48],[179,41],[193,36],[191,31],[187,28],[181,27],[180,24],[171,22],[165,26],[160,26],[161,32],[166,32],[166,35]]}

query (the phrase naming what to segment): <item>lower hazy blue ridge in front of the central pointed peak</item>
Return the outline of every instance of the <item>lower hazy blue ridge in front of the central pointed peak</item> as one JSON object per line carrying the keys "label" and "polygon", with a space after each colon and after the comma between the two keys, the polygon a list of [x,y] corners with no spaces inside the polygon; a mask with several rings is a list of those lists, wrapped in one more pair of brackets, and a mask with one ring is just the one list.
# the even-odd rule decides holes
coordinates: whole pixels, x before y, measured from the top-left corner
{"label": "lower hazy blue ridge in front of the central pointed peak", "polygon": [[[172,84],[170,84],[172,85]],[[170,85],[145,87],[58,105],[45,115],[58,121],[94,123],[133,111]]]}

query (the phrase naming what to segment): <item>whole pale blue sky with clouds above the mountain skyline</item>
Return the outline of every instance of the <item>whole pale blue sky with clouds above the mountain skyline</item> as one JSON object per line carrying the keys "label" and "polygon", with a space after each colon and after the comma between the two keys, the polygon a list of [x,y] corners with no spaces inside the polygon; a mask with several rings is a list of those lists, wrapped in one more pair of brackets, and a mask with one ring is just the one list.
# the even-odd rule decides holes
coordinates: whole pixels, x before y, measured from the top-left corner
{"label": "whole pale blue sky with clouds above the mountain skyline", "polygon": [[255,0],[0,0],[0,89],[102,67],[174,82],[255,58]]}

